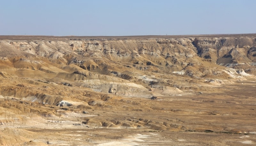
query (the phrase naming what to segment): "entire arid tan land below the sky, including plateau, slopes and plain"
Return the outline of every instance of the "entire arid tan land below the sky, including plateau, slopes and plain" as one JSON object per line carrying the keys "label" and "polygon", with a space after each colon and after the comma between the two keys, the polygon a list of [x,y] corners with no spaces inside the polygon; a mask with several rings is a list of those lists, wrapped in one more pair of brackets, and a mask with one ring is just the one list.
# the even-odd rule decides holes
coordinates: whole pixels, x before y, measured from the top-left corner
{"label": "entire arid tan land below the sky, including plateau, slopes and plain", "polygon": [[255,145],[256,35],[0,36],[0,145]]}

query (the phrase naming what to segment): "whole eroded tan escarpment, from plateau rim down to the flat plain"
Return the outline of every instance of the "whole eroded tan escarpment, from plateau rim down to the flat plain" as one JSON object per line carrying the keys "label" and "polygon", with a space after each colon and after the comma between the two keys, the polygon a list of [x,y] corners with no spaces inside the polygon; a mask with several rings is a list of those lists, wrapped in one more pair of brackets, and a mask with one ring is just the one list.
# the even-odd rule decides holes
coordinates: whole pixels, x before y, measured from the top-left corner
{"label": "whole eroded tan escarpment, from plateau rim down to the flat plain", "polygon": [[155,93],[154,87],[196,90],[210,86],[209,80],[225,83],[255,74],[255,42],[253,37],[4,40],[1,71],[96,92],[151,97],[163,93]]}

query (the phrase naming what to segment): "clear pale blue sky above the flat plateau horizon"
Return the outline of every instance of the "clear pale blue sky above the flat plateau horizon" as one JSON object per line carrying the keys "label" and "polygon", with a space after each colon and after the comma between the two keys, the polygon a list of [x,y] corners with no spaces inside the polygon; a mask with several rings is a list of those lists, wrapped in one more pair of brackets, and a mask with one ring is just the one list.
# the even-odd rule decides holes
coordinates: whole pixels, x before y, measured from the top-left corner
{"label": "clear pale blue sky above the flat plateau horizon", "polygon": [[256,0],[1,0],[0,35],[256,33]]}

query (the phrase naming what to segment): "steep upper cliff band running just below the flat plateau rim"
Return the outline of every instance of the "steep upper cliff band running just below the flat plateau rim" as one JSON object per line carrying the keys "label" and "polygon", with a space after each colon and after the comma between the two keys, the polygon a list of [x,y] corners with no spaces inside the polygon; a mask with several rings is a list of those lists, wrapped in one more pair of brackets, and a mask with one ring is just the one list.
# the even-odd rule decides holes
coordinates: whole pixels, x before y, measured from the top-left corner
{"label": "steep upper cliff band running just below the flat plateau rim", "polygon": [[[78,63],[79,58],[84,60],[86,57],[91,60],[87,63],[89,68],[97,64],[93,60],[98,57],[125,64],[139,64],[137,68],[141,69],[155,66],[172,72],[181,70],[193,60],[197,61],[200,59],[198,56],[222,66],[253,65],[256,57],[255,42],[252,37],[2,41],[1,52],[3,57],[37,55],[63,64]],[[7,54],[4,54],[4,48],[8,48]]]}

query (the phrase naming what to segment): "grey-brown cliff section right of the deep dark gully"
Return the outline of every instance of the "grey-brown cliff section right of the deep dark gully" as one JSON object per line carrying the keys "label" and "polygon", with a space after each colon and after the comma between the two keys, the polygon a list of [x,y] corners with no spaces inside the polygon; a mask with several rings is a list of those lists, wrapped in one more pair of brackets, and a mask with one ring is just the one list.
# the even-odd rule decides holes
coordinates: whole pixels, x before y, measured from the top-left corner
{"label": "grey-brown cliff section right of the deep dark gully", "polygon": [[212,59],[222,66],[243,68],[255,74],[255,38],[196,38],[194,44],[202,58]]}

